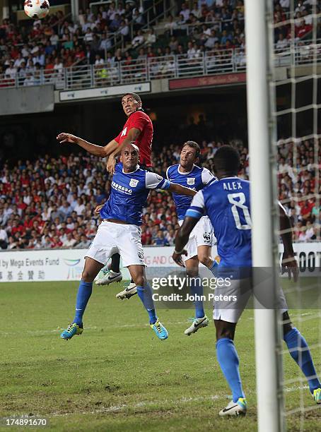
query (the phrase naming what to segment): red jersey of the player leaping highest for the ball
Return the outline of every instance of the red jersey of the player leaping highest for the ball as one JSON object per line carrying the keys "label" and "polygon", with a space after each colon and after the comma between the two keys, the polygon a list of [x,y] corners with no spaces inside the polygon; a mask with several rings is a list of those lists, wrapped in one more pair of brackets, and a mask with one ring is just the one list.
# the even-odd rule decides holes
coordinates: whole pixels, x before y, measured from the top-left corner
{"label": "red jersey of the player leaping highest for the ball", "polygon": [[151,119],[144,111],[133,112],[124,124],[122,132],[115,138],[117,143],[122,144],[132,128],[141,131],[139,137],[136,139],[135,144],[139,148],[139,162],[151,167],[151,144],[153,141],[153,124]]}

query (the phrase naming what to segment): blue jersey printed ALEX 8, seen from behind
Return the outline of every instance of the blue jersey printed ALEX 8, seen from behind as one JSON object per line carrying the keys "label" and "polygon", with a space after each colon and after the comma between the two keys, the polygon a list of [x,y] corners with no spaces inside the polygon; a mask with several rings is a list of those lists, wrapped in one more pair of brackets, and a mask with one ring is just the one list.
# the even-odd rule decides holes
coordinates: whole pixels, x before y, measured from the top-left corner
{"label": "blue jersey printed ALEX 8, seen from behind", "polygon": [[252,267],[250,182],[227,177],[199,191],[186,215],[209,216],[221,258],[219,267]]}

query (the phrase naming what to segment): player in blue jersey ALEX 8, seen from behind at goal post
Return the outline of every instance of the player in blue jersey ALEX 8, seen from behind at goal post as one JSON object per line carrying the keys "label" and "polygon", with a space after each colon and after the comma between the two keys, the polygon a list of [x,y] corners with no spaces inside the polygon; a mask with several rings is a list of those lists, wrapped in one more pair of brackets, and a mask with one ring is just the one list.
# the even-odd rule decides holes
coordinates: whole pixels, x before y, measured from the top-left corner
{"label": "player in blue jersey ALEX 8, seen from behind at goal post", "polygon": [[[173,259],[177,264],[183,265],[182,253],[189,235],[206,212],[214,227],[218,254],[221,258],[216,275],[225,277],[231,270],[238,273],[252,268],[250,182],[238,178],[239,167],[240,156],[237,150],[227,145],[217,150],[214,155],[214,174],[218,181],[199,191],[186,212],[185,220],[175,241]],[[287,231],[286,234],[281,234],[284,244],[282,272],[288,272],[289,277],[293,275],[294,280],[297,280],[298,265],[293,253],[291,222],[281,205],[279,212],[281,231]],[[250,296],[250,284],[250,280],[246,277],[245,279],[235,277],[234,280],[230,280],[230,286],[227,284],[215,293],[231,296],[230,302],[216,301],[214,304],[216,355],[233,393],[233,400],[221,410],[221,416],[246,414],[247,404],[238,369],[238,353],[233,339],[236,324]],[[247,285],[247,290],[244,290],[243,285]],[[233,299],[233,296],[237,299]],[[283,313],[283,334],[288,350],[307,378],[315,402],[321,404],[321,384],[317,378],[308,344],[298,329],[293,327],[281,290],[278,295],[278,309]]]}

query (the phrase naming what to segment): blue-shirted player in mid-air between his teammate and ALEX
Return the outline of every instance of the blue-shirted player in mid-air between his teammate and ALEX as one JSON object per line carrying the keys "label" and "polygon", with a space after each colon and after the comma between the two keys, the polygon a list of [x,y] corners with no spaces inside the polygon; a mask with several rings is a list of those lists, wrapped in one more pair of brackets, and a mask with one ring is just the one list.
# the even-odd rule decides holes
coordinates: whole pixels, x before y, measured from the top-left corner
{"label": "blue-shirted player in mid-air between his teammate and ALEX", "polygon": [[[180,163],[172,165],[167,170],[167,178],[170,182],[200,191],[204,186],[214,181],[215,177],[206,168],[195,165],[200,155],[201,149],[194,141],[187,141],[180,152]],[[185,213],[192,203],[189,196],[173,193],[178,223],[182,225]],[[191,277],[191,291],[197,296],[203,295],[203,287],[199,278],[199,263],[204,264],[211,270],[214,261],[211,258],[211,246],[214,245],[214,232],[208,216],[203,216],[197,222],[193,231],[189,235],[187,243],[187,256],[185,256],[185,267],[189,277]],[[204,313],[203,301],[195,301],[195,318],[191,318],[192,325],[185,330],[185,335],[189,336],[197,332],[199,328],[209,325],[209,319]]]}

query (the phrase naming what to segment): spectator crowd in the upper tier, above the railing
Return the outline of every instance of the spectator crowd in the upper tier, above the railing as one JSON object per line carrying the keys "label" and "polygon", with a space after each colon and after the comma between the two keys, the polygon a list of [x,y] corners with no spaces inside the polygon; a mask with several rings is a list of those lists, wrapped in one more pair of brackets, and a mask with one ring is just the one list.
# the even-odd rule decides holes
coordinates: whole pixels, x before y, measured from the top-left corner
{"label": "spectator crowd in the upper tier, above the railing", "polygon": [[[288,47],[293,37],[300,40],[311,33],[311,1],[297,2],[294,35],[286,23],[289,0],[274,3],[278,49]],[[19,25],[4,19],[0,25],[1,87],[16,78],[19,85],[40,84],[42,72],[48,80],[59,81],[63,68],[78,64],[95,65],[103,79],[119,61],[130,68],[134,59],[187,54],[192,61],[207,51],[223,56],[233,48],[245,50],[243,0],[177,2],[177,15],[165,16],[163,11],[164,19],[157,28],[147,25],[162,13],[152,8],[147,15],[152,4],[148,0],[136,4],[118,1],[116,6],[112,1],[80,11],[77,21],[61,11]]]}

